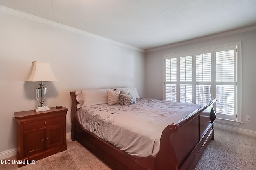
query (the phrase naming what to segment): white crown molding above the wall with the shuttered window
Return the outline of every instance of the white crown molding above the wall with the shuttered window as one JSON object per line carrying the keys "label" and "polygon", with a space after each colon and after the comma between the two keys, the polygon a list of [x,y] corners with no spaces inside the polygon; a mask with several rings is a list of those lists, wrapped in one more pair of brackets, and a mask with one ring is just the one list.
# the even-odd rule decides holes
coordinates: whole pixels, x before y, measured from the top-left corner
{"label": "white crown molding above the wall with the shuttered window", "polygon": [[196,43],[196,42],[199,42],[199,41],[205,41],[205,40],[209,40],[209,39],[224,37],[224,36],[227,36],[227,35],[233,35],[233,34],[237,34],[237,33],[253,31],[253,30],[256,30],[256,25],[251,26],[251,27],[245,27],[245,28],[241,28],[241,29],[236,29],[236,30],[232,30],[232,31],[226,31],[226,32],[223,32],[223,33],[216,33],[214,35],[209,35],[209,36],[206,36],[206,37],[201,37],[201,38],[197,38],[197,39],[183,41],[183,42],[180,42],[180,43],[174,43],[174,44],[165,45],[165,46],[162,46],[162,47],[148,49],[148,50],[146,50],[146,53],[152,52],[152,51],[158,51],[158,50],[162,50],[162,49],[168,49],[168,48],[172,48],[172,47],[177,47],[177,46],[180,46],[180,45]]}

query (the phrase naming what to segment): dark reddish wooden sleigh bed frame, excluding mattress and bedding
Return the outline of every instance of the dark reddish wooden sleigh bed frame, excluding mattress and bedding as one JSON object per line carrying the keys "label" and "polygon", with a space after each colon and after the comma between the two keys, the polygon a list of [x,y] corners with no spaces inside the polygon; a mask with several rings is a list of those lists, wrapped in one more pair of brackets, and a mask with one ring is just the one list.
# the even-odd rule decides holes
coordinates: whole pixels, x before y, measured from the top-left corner
{"label": "dark reddish wooden sleigh bed frame, excluding mattress and bedding", "polygon": [[76,117],[76,94],[70,92],[70,95],[71,139],[84,145],[115,170],[193,170],[210,140],[214,139],[213,121],[216,114],[212,105],[216,99],[210,100],[177,123],[168,125],[162,132],[160,151],[156,156],[130,156],[80,125]]}

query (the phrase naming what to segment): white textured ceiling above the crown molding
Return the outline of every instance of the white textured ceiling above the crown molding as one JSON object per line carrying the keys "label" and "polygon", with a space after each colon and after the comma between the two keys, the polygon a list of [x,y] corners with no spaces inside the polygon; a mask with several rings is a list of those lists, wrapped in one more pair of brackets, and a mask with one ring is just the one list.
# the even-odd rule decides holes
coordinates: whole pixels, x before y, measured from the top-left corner
{"label": "white textured ceiling above the crown molding", "polygon": [[144,50],[256,25],[256,0],[0,0],[0,5]]}

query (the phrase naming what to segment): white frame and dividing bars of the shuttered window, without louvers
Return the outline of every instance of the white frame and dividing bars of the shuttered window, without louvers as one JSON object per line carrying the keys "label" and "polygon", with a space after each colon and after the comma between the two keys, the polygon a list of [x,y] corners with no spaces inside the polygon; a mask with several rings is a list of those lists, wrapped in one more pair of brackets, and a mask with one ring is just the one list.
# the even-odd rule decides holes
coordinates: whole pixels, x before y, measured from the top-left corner
{"label": "white frame and dividing bars of the shuttered window, without louvers", "polygon": [[[178,52],[178,53],[170,53],[170,54],[166,54],[166,55],[163,55],[163,99],[166,100],[166,85],[167,84],[170,84],[168,82],[166,82],[166,59],[169,59],[171,57],[176,57],[177,58],[177,65],[178,65],[178,68],[177,68],[177,82],[176,82],[176,86],[177,86],[177,91],[179,90],[179,87],[180,86],[180,82],[179,81],[179,78],[180,78],[180,75],[179,75],[179,62],[180,62],[180,59],[179,57],[180,56],[184,56],[184,55],[193,55],[193,87],[196,87],[196,85],[198,84],[196,82],[196,76],[195,76],[195,71],[194,69],[196,68],[196,55],[197,54],[201,54],[202,52],[206,52],[208,53],[209,51],[212,53],[212,63],[211,65],[214,64],[214,67],[212,67],[211,69],[211,76],[212,76],[212,80],[215,80],[215,61],[213,60],[213,57],[215,59],[215,50],[216,49],[222,49],[222,48],[226,48],[226,47],[231,47],[231,46],[236,46],[236,51],[234,51],[234,53],[236,53],[236,61],[234,61],[234,72],[236,72],[236,74],[234,74],[234,81],[236,81],[234,84],[236,84],[236,95],[234,96],[234,98],[236,99],[236,102],[234,103],[234,109],[236,109],[236,111],[234,111],[234,114],[236,114],[236,119],[232,120],[232,119],[228,119],[227,117],[220,117],[218,116],[217,114],[217,118],[216,118],[216,122],[222,122],[222,123],[228,123],[228,124],[233,124],[233,125],[239,125],[240,123],[242,123],[242,52],[241,52],[241,45],[242,43],[241,42],[236,42],[236,43],[230,43],[230,44],[224,44],[224,45],[217,45],[217,46],[213,46],[213,47],[206,47],[206,48],[202,48],[202,49],[195,49],[195,50],[190,50],[190,51],[183,51],[183,52]],[[214,69],[213,69],[214,68]],[[207,83],[199,83],[199,84],[207,84]],[[208,83],[209,84],[209,83]],[[215,93],[215,85],[216,85],[216,82],[215,81],[211,81],[210,82],[211,84],[211,88],[212,88],[212,93]],[[213,88],[214,87],[214,88]],[[192,95],[193,95],[193,99],[192,99],[192,102],[193,103],[196,103],[196,88],[193,88],[193,92],[192,92]],[[179,98],[179,95],[177,94],[177,100]],[[213,96],[213,95],[211,95]],[[214,95],[215,96],[215,95]],[[213,97],[211,97],[213,98]],[[179,101],[179,100],[178,100]]]}

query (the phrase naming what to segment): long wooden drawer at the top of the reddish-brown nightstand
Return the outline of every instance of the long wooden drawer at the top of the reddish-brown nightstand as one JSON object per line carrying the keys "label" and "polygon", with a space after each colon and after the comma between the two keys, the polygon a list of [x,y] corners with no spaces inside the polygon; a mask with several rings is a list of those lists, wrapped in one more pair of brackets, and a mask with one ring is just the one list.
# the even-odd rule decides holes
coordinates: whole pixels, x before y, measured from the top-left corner
{"label": "long wooden drawer at the top of the reddish-brown nightstand", "polygon": [[52,125],[58,125],[64,123],[62,117],[54,117],[51,119],[43,119],[38,121],[32,121],[23,124],[23,131],[30,131],[33,129],[40,129]]}

